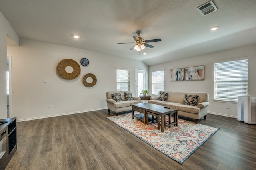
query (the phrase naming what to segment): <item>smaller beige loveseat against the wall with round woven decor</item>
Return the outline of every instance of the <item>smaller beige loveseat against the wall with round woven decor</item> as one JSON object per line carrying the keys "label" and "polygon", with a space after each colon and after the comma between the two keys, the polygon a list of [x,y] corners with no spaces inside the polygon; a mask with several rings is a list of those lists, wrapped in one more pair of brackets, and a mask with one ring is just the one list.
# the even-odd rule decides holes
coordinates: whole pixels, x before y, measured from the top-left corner
{"label": "smaller beige loveseat against the wall with round woven decor", "polygon": [[[116,95],[118,93],[120,93],[121,95]],[[108,91],[106,95],[108,113],[110,113],[110,110],[112,110],[116,112],[116,116],[119,112],[132,110],[132,104],[142,103],[140,97],[134,97],[131,91]]]}

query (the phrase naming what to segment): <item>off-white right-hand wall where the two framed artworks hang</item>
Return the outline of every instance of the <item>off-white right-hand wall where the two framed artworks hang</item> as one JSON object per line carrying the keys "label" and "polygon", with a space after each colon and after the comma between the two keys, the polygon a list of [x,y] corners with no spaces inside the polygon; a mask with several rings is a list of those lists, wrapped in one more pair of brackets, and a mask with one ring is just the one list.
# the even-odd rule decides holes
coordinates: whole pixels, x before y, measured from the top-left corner
{"label": "off-white right-hand wall where the two framed artworks hang", "polygon": [[[193,57],[180,61],[164,63],[149,67],[149,82],[152,82],[152,71],[165,69],[165,90],[167,91],[188,91],[209,93],[210,106],[208,113],[223,115],[227,117],[237,117],[237,104],[213,101],[214,98],[214,62],[227,59],[249,57],[249,95],[256,97],[256,45],[230,49],[218,53]],[[178,69],[204,65],[205,78],[202,81],[170,81],[170,69]],[[152,92],[152,83],[149,83],[149,90]],[[230,109],[226,109],[230,105]]]}

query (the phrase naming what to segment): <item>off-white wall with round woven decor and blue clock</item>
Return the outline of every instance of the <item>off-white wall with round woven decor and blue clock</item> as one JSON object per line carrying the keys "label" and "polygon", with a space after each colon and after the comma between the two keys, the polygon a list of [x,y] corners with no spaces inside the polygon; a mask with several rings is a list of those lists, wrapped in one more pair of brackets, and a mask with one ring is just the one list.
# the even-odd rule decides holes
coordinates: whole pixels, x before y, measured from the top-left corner
{"label": "off-white wall with round woven decor and blue clock", "polygon": [[[106,92],[116,91],[116,68],[130,69],[133,93],[135,69],[148,71],[142,61],[22,38],[19,47],[8,45],[7,55],[12,56],[12,117],[18,121],[105,109]],[[82,58],[89,60],[88,66],[80,64]],[[56,66],[62,59],[79,63],[76,79],[58,76]],[[97,77],[95,86],[84,86],[87,73]]]}

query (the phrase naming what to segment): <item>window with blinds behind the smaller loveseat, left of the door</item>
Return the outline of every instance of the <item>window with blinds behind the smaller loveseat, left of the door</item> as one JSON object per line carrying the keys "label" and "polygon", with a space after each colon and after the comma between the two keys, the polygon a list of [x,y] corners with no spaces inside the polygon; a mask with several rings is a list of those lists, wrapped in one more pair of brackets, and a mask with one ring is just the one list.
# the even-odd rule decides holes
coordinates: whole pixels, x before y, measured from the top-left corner
{"label": "window with blinds behind the smaller loveseat, left of the door", "polygon": [[116,69],[117,91],[130,90],[130,70]]}

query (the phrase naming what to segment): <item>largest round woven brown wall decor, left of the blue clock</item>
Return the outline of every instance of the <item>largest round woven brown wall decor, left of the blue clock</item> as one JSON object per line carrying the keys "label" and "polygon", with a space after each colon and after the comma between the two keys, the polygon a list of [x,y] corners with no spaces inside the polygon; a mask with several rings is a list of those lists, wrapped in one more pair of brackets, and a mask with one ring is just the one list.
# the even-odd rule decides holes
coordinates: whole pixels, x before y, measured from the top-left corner
{"label": "largest round woven brown wall decor, left of the blue clock", "polygon": [[[73,68],[72,73],[68,73],[66,71],[66,67],[68,67],[68,66]],[[78,75],[81,72],[81,68],[80,68],[80,65],[74,60],[72,60],[72,59],[63,59],[58,63],[57,71],[58,71],[58,74],[62,78],[72,80],[72,79],[75,79],[76,77],[78,77]]]}

